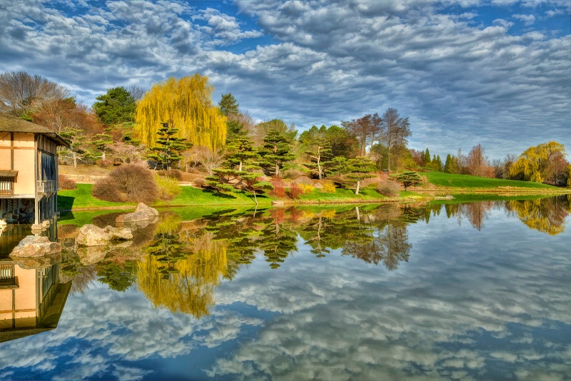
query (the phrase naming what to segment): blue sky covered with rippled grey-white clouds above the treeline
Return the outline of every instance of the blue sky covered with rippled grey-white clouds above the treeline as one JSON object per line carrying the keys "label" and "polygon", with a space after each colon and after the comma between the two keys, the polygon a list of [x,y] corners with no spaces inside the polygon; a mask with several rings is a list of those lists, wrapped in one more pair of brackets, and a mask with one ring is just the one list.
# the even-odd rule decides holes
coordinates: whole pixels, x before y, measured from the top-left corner
{"label": "blue sky covered with rippled grey-white clouds above the treeline", "polygon": [[299,131],[393,107],[419,151],[571,152],[569,0],[0,0],[0,35],[0,72],[89,106],[198,72]]}

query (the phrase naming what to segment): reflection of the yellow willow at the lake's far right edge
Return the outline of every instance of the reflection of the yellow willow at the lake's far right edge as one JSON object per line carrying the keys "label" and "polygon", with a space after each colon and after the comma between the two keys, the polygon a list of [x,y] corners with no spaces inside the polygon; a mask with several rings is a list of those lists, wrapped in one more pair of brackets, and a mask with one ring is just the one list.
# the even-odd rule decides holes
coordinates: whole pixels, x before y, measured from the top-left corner
{"label": "reflection of the yellow willow at the lake's far right edge", "polygon": [[528,228],[556,235],[565,231],[565,218],[569,214],[557,198],[510,200],[510,209]]}

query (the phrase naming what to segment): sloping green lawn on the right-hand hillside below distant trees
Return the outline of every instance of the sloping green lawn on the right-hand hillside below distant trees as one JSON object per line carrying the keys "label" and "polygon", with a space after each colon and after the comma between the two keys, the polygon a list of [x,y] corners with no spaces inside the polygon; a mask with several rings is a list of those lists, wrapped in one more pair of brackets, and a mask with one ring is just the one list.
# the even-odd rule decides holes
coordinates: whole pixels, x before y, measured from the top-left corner
{"label": "sloping green lawn on the right-hand hillside below distant trees", "polygon": [[421,176],[426,176],[428,181],[435,186],[446,186],[450,188],[497,188],[500,186],[510,186],[517,188],[542,188],[545,190],[557,190],[555,186],[548,186],[542,183],[532,183],[531,181],[502,180],[501,178],[485,178],[469,175],[456,175],[453,173],[443,173],[438,171],[421,172]]}

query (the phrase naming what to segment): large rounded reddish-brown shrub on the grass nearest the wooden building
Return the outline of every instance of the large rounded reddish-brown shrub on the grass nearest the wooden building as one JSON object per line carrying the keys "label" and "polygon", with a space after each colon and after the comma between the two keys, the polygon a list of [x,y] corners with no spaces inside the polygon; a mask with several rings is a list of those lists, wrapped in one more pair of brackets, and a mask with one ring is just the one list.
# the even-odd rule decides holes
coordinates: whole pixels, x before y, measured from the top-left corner
{"label": "large rounded reddish-brown shrub on the grass nearest the wooden building", "polygon": [[153,173],[138,164],[123,164],[94,184],[94,197],[112,202],[150,204],[157,198]]}

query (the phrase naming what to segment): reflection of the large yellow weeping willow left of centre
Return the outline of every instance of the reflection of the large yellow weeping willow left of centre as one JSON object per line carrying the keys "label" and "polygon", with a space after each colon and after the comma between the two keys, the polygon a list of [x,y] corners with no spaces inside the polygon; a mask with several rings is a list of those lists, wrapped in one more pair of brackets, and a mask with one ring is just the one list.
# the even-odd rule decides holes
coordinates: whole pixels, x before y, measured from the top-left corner
{"label": "reflection of the large yellow weeping willow left of centre", "polygon": [[[208,315],[213,307],[213,291],[226,275],[226,244],[212,239],[196,245],[196,253],[167,264],[148,255],[138,263],[138,287],[157,308],[195,317]],[[168,279],[160,268],[168,268]]]}

